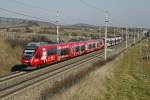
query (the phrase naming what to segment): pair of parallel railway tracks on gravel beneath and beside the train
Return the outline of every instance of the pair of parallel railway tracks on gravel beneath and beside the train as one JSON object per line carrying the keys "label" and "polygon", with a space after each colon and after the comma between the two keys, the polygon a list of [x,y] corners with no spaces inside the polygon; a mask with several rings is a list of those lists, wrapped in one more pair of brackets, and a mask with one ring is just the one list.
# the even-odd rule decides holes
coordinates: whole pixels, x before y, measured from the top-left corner
{"label": "pair of parallel railway tracks on gravel beneath and beside the train", "polygon": [[[122,44],[111,47],[121,47]],[[124,47],[124,46],[123,46]],[[121,47],[122,48],[122,47]],[[49,67],[36,70],[33,72],[16,72],[15,74],[2,77],[0,79],[0,98],[4,98],[25,87],[31,86],[47,78],[53,78],[58,74],[78,68],[79,65],[87,62],[95,62],[103,57],[103,50],[92,52],[83,56],[79,56],[70,60],[66,60]]]}

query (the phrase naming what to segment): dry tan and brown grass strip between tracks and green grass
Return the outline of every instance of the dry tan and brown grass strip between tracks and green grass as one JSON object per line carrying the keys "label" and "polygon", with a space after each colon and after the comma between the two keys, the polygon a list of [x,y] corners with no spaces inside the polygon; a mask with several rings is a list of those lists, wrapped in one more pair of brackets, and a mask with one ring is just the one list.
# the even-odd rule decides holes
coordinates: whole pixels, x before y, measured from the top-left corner
{"label": "dry tan and brown grass strip between tracks and green grass", "polygon": [[[111,61],[112,59],[109,60]],[[112,77],[111,67],[117,60],[118,58],[109,64],[106,64],[104,61],[99,61],[95,63],[93,67],[84,69],[84,71],[80,71],[77,75],[70,76],[66,80],[58,82],[59,84],[56,84],[57,88],[47,89],[41,98],[44,100],[94,99],[99,95],[100,91],[105,91],[104,83],[106,76],[109,78]],[[102,65],[105,65],[105,67],[101,67]],[[92,70],[97,68],[100,69],[92,72]]]}

